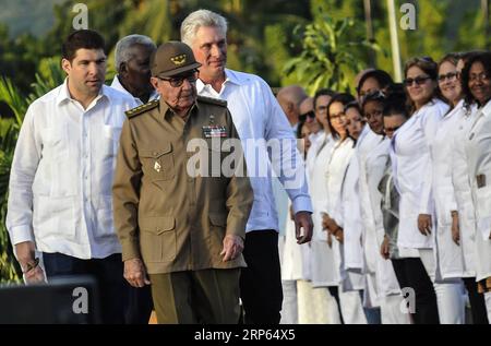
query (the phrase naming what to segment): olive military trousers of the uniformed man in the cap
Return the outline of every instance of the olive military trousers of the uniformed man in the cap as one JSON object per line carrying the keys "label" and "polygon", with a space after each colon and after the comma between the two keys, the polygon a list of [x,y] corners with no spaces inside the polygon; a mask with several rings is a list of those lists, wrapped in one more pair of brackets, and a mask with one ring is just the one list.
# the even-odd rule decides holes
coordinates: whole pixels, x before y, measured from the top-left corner
{"label": "olive military trousers of the uniformed man in the cap", "polygon": [[237,324],[240,269],[151,274],[159,324]]}

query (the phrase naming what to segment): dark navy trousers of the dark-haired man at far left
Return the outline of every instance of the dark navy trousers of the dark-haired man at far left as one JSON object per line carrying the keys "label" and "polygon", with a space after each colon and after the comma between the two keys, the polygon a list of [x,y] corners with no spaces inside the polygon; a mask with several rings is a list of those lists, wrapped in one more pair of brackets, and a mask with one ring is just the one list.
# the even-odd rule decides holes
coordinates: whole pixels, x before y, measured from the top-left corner
{"label": "dark navy trousers of the dark-haired man at far left", "polygon": [[98,284],[101,321],[124,323],[124,285],[121,254],[81,260],[61,253],[43,253],[48,279],[56,276],[89,275]]}

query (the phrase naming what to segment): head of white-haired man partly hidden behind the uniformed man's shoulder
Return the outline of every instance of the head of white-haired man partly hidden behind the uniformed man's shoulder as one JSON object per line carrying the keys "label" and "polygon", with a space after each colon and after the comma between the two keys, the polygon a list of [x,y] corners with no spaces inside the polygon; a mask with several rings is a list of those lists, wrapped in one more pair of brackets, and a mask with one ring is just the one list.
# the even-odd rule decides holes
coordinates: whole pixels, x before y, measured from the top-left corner
{"label": "head of white-haired man partly hidden behind the uniformed man's shoulder", "polygon": [[149,81],[149,59],[155,49],[152,38],[144,35],[129,35],[116,44],[115,68],[118,74],[111,87],[131,95],[139,106],[158,98]]}

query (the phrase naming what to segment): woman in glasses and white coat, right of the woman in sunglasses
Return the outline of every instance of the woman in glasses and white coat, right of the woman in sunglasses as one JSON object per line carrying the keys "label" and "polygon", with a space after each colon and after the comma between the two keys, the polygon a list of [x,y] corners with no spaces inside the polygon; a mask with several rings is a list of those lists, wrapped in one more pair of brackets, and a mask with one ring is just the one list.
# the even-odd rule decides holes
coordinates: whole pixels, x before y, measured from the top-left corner
{"label": "woman in glasses and white coat, right of the woman in sunglasses", "polygon": [[[439,123],[432,145],[438,244],[435,253],[445,281],[458,283],[460,278],[465,279],[472,322],[482,324],[488,323],[488,318],[484,298],[477,293],[474,205],[463,145],[465,140],[455,140],[464,132],[459,128],[467,126],[470,118],[470,109],[464,107],[458,81],[459,58],[459,55],[450,53],[439,63],[439,88],[452,110]],[[464,310],[464,301],[462,309]]]}

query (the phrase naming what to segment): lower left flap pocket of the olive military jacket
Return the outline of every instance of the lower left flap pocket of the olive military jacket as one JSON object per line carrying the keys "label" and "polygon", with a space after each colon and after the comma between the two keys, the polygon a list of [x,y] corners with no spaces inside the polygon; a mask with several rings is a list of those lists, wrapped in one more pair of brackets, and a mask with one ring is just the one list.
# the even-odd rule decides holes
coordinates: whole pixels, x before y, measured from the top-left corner
{"label": "lower left flap pocket of the olive military jacket", "polygon": [[172,216],[141,217],[139,226],[144,262],[170,262],[176,259],[177,234]]}

